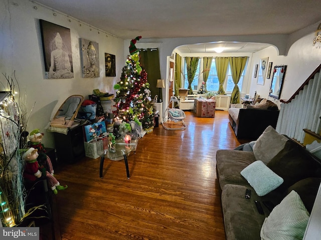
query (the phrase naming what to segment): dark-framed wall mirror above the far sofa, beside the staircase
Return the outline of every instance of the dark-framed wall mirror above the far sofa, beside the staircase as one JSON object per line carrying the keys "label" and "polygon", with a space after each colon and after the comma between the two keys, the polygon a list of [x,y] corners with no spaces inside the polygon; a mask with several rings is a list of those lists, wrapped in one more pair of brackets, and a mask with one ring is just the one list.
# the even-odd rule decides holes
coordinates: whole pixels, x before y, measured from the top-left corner
{"label": "dark-framed wall mirror above the far sofa, beside the staircase", "polygon": [[274,66],[269,96],[280,99],[286,65]]}

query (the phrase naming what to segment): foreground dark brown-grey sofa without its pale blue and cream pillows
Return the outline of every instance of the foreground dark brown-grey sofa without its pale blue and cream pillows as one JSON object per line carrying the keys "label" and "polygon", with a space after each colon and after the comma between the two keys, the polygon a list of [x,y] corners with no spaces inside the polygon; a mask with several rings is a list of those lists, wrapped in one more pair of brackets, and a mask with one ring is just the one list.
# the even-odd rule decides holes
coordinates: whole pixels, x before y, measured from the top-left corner
{"label": "foreground dark brown-grey sofa without its pale blue and cream pillows", "polygon": [[[226,239],[228,240],[261,239],[264,233],[262,233],[264,230],[261,231],[263,222],[272,210],[269,210],[263,201],[270,201],[273,205],[278,206],[292,190],[300,196],[304,204],[303,208],[305,207],[306,211],[310,213],[321,181],[320,160],[295,141],[277,133],[273,127],[268,126],[257,141],[252,142],[251,145],[253,145],[253,151],[220,149],[216,154],[216,170],[222,189],[222,210]],[[251,147],[244,147],[244,149],[249,148]],[[254,188],[241,175],[241,171],[246,167],[249,168],[255,161],[263,161],[268,167],[267,170],[272,170],[273,173],[280,176],[283,183],[267,194],[259,196],[256,193],[257,186]],[[257,174],[255,170],[253,174]],[[269,183],[269,179],[264,180],[264,184]],[[245,198],[247,188],[251,190],[250,198]],[[258,212],[254,200],[260,202],[264,214]],[[282,203],[282,206],[284,204]],[[291,210],[289,209],[289,211]],[[270,228],[269,233],[273,235],[273,229]],[[262,239],[273,238],[275,237],[262,237]]]}

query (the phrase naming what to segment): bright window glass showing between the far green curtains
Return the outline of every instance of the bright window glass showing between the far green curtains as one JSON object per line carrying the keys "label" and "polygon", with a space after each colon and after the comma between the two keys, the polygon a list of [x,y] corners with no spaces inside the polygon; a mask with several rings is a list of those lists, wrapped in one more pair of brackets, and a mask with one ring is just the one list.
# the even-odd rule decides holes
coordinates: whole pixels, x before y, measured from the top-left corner
{"label": "bright window glass showing between the far green curtains", "polygon": [[[199,60],[199,65],[198,65],[198,68],[197,68],[197,72],[196,72],[195,77],[194,77],[193,82],[192,82],[192,88],[196,92],[198,91],[198,89],[199,89],[199,87],[200,87],[200,85],[202,84],[202,81],[203,81],[203,74],[202,74],[202,70],[200,71],[200,66],[203,66],[203,58],[200,58],[200,60]],[[240,88],[240,91],[242,91],[243,79],[244,79],[244,74],[246,73],[246,68],[247,68],[247,63],[245,65],[245,67],[244,67],[244,70],[242,72],[240,80],[239,80],[239,82],[237,84],[239,86],[239,88]],[[185,76],[184,88],[188,88],[189,83],[188,83],[188,80],[187,80],[187,70],[186,70],[186,61],[185,61],[185,59],[184,59],[184,69],[185,69],[184,70],[184,76]],[[209,72],[209,76],[208,76],[207,82],[206,82],[206,89],[208,91],[218,91],[219,85],[220,85],[220,82],[219,82],[219,78],[217,76],[215,58],[213,58],[212,64],[211,64],[211,69],[210,69],[210,72]],[[224,90],[227,93],[231,93],[233,91],[233,88],[234,88],[234,82],[233,82],[233,78],[232,78],[230,65],[227,68],[227,76],[226,76],[226,79],[224,81],[223,87],[224,87]]]}

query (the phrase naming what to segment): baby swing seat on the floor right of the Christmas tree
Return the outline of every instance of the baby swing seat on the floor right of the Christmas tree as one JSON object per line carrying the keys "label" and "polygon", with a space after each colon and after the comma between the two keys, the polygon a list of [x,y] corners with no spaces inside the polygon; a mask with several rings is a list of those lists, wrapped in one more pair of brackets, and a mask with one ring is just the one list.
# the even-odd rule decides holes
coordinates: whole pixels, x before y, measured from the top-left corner
{"label": "baby swing seat on the floor right of the Christmas tree", "polygon": [[[178,108],[174,108],[175,102],[178,104]],[[173,108],[170,107],[170,105],[173,105]],[[180,126],[175,127],[176,124],[171,124],[172,126],[170,127],[168,123],[164,123],[162,121],[162,125],[165,129],[167,130],[184,130],[186,128],[186,124],[184,122],[184,119],[186,117],[185,112],[180,109],[180,101],[177,99],[176,96],[171,96],[170,103],[167,106],[164,116],[168,114],[168,120],[173,121],[174,123],[179,123]]]}

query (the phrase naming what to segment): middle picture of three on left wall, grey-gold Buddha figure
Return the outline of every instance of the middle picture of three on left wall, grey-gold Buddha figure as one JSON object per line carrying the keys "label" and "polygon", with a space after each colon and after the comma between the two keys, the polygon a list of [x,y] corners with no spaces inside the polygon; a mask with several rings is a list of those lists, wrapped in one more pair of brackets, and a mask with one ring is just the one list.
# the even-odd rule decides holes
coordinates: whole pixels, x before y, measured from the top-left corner
{"label": "middle picture of three on left wall, grey-gold Buddha figure", "polygon": [[99,77],[99,48],[98,43],[80,38],[80,57],[83,77]]}

